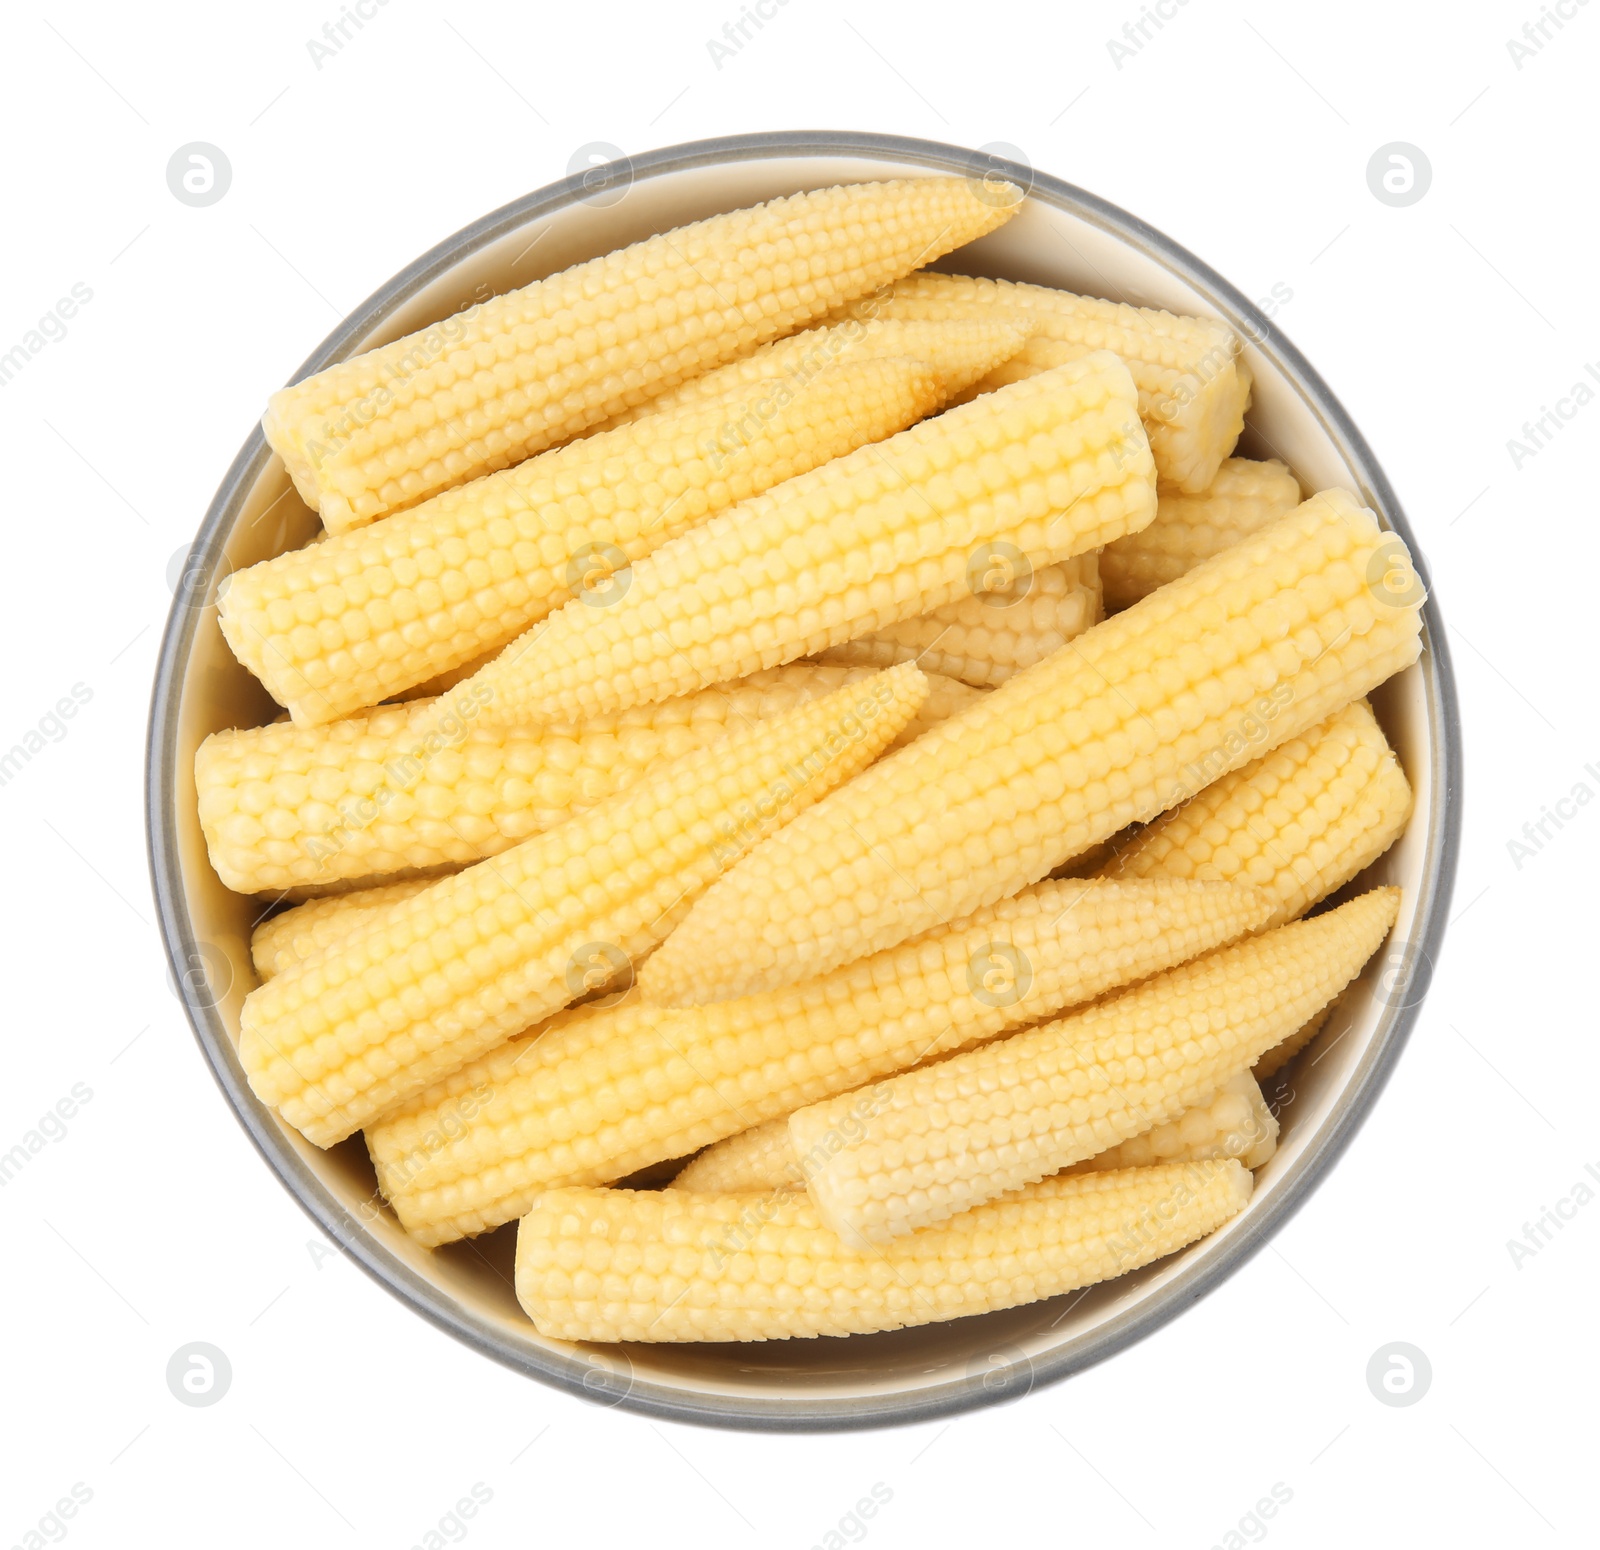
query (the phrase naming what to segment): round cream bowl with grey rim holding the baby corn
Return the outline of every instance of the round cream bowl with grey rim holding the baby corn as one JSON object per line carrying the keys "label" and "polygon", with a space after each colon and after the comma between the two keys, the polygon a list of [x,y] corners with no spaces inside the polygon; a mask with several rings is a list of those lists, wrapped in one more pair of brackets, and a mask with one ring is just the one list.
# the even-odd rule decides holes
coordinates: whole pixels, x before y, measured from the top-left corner
{"label": "round cream bowl with grey rim holding the baby corn", "polygon": [[[592,168],[474,222],[350,314],[299,376],[446,317],[482,285],[509,290],[685,221],[835,182],[994,174],[1027,190],[1018,214],[942,267],[1222,317],[1246,341],[1254,401],[1242,451],[1283,457],[1307,488],[1346,485],[1416,553],[1389,480],[1322,378],[1261,310],[1174,242],[1104,200],[981,152],[883,134],[784,133],[696,141]],[[1006,197],[1003,192],[997,197]],[[478,291],[478,294],[482,294]],[[267,384],[262,384],[266,401]],[[1294,1072],[1277,1155],[1221,1232],[1117,1281],[922,1329],[752,1345],[587,1347],[539,1336],[510,1286],[515,1224],[429,1251],[382,1206],[360,1136],[322,1152],[251,1094],[238,1011],[254,985],[258,901],[213,873],[195,813],[194,753],[277,707],[222,641],[216,587],[317,529],[253,427],[189,555],[155,670],[147,821],[155,905],[205,1059],[267,1166],[363,1270],[440,1329],[498,1361],[605,1404],[746,1428],[912,1424],[1016,1398],[1152,1334],[1218,1288],[1304,1203],[1394,1069],[1427,990],[1456,865],[1461,737],[1438,601],[1421,661],[1374,696],[1416,789],[1406,833],[1371,881],[1403,885],[1395,933],[1352,987],[1315,1062]],[[1334,1037],[1342,1027],[1342,1037]]]}

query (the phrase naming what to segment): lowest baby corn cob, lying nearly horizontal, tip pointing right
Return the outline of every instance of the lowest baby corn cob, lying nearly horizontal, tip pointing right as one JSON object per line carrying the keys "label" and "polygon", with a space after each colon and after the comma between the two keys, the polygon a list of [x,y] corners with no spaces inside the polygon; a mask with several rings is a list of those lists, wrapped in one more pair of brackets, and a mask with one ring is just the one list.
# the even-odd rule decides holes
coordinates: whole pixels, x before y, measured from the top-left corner
{"label": "lowest baby corn cob, lying nearly horizontal, tip pointing right", "polygon": [[517,1228],[517,1300],[560,1340],[781,1340],[931,1324],[1136,1270],[1243,1209],[1232,1160],[1045,1179],[877,1254],[800,1193],[550,1190]]}

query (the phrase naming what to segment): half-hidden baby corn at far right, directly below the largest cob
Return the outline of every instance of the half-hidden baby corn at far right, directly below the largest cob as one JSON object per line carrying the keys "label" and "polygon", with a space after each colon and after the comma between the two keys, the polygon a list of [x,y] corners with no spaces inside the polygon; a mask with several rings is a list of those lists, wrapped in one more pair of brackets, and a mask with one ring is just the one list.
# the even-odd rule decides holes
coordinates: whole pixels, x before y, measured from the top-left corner
{"label": "half-hidden baby corn at far right, directly below the largest cob", "polygon": [[1358,699],[1163,813],[1101,872],[1251,883],[1280,926],[1370,867],[1410,816],[1411,785]]}

